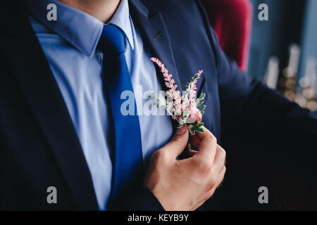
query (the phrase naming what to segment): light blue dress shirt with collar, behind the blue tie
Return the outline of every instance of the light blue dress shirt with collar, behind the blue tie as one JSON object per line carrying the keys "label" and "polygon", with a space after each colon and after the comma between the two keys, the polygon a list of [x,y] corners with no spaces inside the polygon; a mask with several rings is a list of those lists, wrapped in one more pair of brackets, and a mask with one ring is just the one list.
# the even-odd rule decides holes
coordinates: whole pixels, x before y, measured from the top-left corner
{"label": "light blue dress shirt with collar, behind the blue tie", "polygon": [[[49,12],[46,7],[51,3],[57,6],[56,21],[46,18]],[[58,1],[29,0],[29,6],[30,22],[77,131],[92,175],[99,209],[106,210],[112,176],[112,139],[108,122],[111,115],[101,79],[103,54],[97,50],[104,24]],[[152,91],[157,93],[162,88],[150,60],[151,53],[144,46],[139,30],[130,18],[128,0],[120,1],[108,23],[123,30],[125,58],[133,89],[135,94],[144,94],[143,99],[135,100],[142,135],[142,154],[144,162],[147,162],[151,153],[161,148],[172,136],[170,117],[148,115],[147,110],[144,110],[144,107],[149,107],[149,94]]]}

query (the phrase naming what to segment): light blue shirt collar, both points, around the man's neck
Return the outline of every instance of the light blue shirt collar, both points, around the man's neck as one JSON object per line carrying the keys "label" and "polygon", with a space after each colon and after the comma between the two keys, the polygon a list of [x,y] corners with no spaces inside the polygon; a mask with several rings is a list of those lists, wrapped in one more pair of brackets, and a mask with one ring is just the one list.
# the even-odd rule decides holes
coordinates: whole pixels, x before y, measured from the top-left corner
{"label": "light blue shirt collar, both points, around the man's neck", "polygon": [[[85,55],[92,57],[97,48],[104,23],[92,15],[62,4],[56,0],[27,0],[29,11],[40,23],[49,27],[63,39],[75,46]],[[49,4],[56,4],[57,20],[49,21],[46,16]],[[120,4],[108,24],[113,24],[123,30],[125,37],[134,49],[132,27],[129,15],[128,0],[121,0]]]}

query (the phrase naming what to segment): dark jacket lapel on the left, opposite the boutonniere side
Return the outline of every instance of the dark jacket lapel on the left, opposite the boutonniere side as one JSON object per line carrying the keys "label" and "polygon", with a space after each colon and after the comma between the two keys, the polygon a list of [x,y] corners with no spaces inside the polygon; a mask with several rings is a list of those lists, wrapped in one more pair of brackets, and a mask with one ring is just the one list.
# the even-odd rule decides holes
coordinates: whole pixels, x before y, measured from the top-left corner
{"label": "dark jacket lapel on the left, opposite the boutonniere side", "polygon": [[11,12],[13,17],[20,15],[19,18],[6,20],[12,21],[8,26],[16,27],[21,32],[2,36],[0,50],[4,52],[18,80],[17,85],[23,90],[25,100],[53,150],[75,208],[97,210],[91,175],[66,104],[27,16],[15,12],[16,9],[8,8],[14,10]]}

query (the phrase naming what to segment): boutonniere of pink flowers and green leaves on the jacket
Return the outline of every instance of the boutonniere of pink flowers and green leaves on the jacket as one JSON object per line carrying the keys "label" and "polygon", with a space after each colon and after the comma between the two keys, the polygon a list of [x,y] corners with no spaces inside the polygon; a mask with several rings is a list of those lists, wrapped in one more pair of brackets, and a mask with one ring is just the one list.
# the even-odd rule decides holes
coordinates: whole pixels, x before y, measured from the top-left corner
{"label": "boutonniere of pink flowers and green leaves on the jacket", "polygon": [[166,96],[161,96],[156,93],[152,94],[151,99],[153,100],[153,104],[158,108],[164,106],[168,115],[178,122],[178,128],[187,127],[189,139],[185,151],[189,152],[191,150],[190,136],[194,135],[197,131],[204,132],[204,129],[201,128],[204,123],[201,122],[201,120],[206,108],[206,105],[204,105],[206,94],[202,93],[199,98],[196,96],[197,80],[201,77],[203,70],[199,70],[199,72],[190,79],[190,82],[186,84],[186,91],[180,94],[173,75],[168,72],[165,65],[158,58],[151,58],[151,61],[156,63],[161,69],[165,85],[168,88]]}

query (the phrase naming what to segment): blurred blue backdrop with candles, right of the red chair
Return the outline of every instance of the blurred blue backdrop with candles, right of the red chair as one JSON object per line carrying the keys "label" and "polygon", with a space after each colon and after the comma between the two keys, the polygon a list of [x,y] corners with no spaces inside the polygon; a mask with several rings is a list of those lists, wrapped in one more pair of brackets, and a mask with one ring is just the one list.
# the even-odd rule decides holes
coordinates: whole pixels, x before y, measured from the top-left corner
{"label": "blurred blue backdrop with candles, right of the red chair", "polygon": [[[317,1],[250,0],[248,72],[317,115]],[[268,5],[268,21],[258,6]]]}

